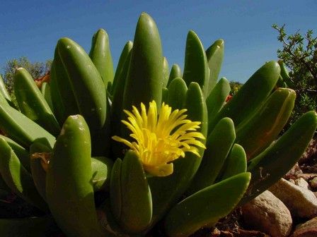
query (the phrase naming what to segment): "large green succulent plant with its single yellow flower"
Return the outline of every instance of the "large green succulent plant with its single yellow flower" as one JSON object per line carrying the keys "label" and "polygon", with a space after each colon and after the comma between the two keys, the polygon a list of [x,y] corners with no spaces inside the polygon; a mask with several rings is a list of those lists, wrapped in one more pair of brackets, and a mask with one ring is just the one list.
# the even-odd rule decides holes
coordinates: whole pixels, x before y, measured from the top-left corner
{"label": "large green succulent plant with its single yellow flower", "polygon": [[205,51],[190,31],[183,73],[177,64],[168,73],[159,30],[142,13],[115,72],[105,30],[89,54],[59,39],[41,90],[18,68],[18,109],[0,90],[0,189],[42,216],[0,219],[1,236],[44,236],[54,223],[67,236],[156,227],[190,236],[272,186],[309,144],[316,112],[278,138],[296,96],[277,87],[279,64],[265,63],[226,102],[223,56],[222,39]]}

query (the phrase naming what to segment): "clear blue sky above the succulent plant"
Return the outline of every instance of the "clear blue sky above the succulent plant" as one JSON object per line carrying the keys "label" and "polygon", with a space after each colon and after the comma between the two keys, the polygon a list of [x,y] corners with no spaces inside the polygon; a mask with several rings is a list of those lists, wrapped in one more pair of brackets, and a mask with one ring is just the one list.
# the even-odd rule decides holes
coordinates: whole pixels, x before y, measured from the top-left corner
{"label": "clear blue sky above the succulent plant", "polygon": [[[220,76],[245,82],[265,61],[277,59],[277,32],[308,29],[317,33],[317,1],[1,1],[0,72],[8,59],[27,56],[30,61],[52,59],[60,37],[70,37],[89,51],[91,37],[104,28],[110,37],[114,65],[122,47],[133,40],[142,11],[158,25],[168,63],[183,68],[185,40],[194,30],[205,49],[216,39],[225,40]],[[315,34],[316,35],[316,34]]]}

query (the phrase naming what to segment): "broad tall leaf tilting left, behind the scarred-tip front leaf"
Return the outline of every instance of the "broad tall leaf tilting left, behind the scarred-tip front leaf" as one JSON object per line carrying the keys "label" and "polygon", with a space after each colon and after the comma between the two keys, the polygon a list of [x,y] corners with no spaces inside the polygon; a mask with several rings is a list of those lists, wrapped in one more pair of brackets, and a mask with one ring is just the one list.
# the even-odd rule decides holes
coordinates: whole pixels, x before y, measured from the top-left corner
{"label": "broad tall leaf tilting left, behind the scarred-tip front leaf", "polygon": [[109,108],[103,79],[88,54],[73,40],[59,39],[57,50],[74,92],[79,114],[89,126],[93,156],[107,156],[110,116],[107,116]]}

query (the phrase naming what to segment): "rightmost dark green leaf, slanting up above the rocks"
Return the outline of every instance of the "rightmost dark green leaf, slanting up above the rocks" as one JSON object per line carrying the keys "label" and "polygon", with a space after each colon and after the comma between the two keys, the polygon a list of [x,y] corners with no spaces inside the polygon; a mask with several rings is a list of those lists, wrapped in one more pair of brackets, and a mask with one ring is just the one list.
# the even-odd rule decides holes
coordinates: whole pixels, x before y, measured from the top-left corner
{"label": "rightmost dark green leaf, slanting up above the rocks", "polygon": [[240,205],[279,181],[298,161],[317,128],[316,111],[302,115],[276,142],[248,163],[252,178]]}

